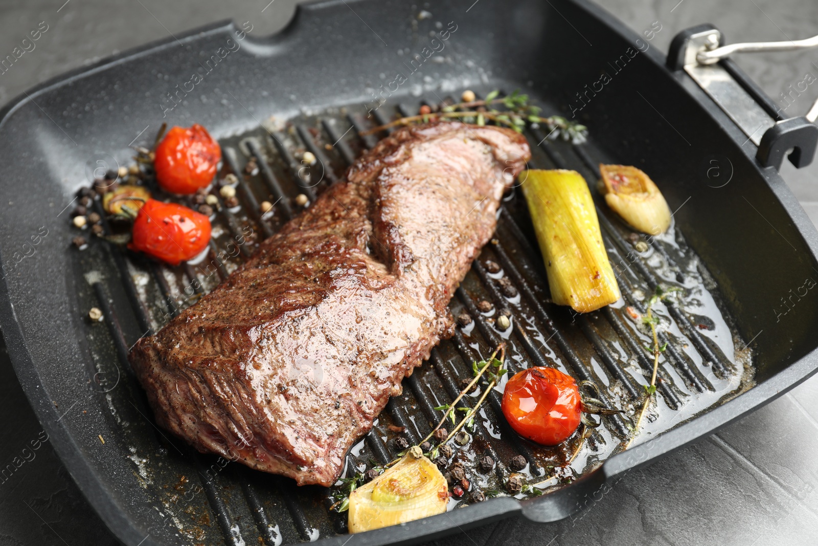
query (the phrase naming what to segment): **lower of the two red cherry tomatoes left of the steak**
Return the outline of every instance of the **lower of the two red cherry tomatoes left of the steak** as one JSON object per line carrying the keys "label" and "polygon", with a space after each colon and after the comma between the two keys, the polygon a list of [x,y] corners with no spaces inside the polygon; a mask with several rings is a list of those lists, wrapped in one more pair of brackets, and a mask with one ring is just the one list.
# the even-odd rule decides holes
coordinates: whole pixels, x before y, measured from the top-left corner
{"label": "lower of the two red cherry tomatoes left of the steak", "polygon": [[178,265],[199,255],[209,241],[210,220],[205,214],[176,203],[149,199],[133,221],[133,237],[128,247]]}

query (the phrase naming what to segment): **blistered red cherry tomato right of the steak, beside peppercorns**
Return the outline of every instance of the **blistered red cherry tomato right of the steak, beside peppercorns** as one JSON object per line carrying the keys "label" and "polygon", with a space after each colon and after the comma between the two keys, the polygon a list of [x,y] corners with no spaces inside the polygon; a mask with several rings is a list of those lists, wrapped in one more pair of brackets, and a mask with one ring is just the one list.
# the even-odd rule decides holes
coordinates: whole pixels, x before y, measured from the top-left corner
{"label": "blistered red cherry tomato right of the steak, beside peppercorns", "polygon": [[557,445],[577,430],[582,401],[573,377],[555,368],[528,368],[506,383],[502,410],[519,435]]}

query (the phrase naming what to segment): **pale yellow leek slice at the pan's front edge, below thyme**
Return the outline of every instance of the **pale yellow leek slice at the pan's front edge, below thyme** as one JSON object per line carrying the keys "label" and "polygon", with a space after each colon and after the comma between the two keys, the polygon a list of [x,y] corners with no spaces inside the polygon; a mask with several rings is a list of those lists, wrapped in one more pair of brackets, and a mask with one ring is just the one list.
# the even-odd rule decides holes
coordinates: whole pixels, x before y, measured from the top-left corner
{"label": "pale yellow leek slice at the pan's front edge, below thyme", "polygon": [[393,467],[349,495],[349,532],[442,514],[447,504],[446,478],[415,446]]}

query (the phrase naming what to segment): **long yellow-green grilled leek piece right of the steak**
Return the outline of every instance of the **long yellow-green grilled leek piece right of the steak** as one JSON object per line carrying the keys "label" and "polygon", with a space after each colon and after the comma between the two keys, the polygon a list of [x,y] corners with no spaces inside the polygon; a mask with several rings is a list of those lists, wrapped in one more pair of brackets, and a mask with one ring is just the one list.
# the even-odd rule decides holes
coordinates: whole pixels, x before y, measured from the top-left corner
{"label": "long yellow-green grilled leek piece right of the steak", "polygon": [[619,287],[582,175],[532,169],[520,174],[520,180],[546,262],[551,300],[580,313],[618,300]]}

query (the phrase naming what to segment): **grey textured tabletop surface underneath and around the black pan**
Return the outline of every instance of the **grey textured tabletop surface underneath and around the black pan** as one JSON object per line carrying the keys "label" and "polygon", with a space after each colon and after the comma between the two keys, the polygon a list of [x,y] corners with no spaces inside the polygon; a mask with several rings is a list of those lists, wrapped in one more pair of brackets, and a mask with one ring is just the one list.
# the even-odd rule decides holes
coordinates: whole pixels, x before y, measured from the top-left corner
{"label": "grey textured tabletop surface underneath and around the black pan", "polygon": [[[222,18],[251,20],[258,34],[281,28],[292,0],[41,0],[0,2],[0,56],[46,21],[33,51],[0,74],[0,103],[65,70]],[[472,0],[464,2],[464,9]],[[652,42],[665,50],[676,32],[711,22],[730,41],[786,40],[818,34],[815,0],[600,0],[636,31],[655,20]],[[434,2],[429,9],[434,10]],[[474,6],[479,9],[479,3]],[[818,52],[736,59],[771,97],[807,73]],[[807,111],[811,85],[787,113]],[[784,178],[818,222],[818,165]],[[2,214],[2,213],[0,213]],[[748,266],[752,263],[748,261]],[[438,544],[818,544],[818,378],[724,431],[663,461],[622,476],[573,520],[548,526],[510,520]],[[19,457],[40,427],[0,351],[0,466]],[[29,455],[30,458],[30,455]],[[18,459],[22,460],[22,459]],[[45,443],[0,479],[0,545],[116,544]]]}

